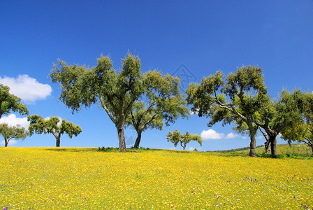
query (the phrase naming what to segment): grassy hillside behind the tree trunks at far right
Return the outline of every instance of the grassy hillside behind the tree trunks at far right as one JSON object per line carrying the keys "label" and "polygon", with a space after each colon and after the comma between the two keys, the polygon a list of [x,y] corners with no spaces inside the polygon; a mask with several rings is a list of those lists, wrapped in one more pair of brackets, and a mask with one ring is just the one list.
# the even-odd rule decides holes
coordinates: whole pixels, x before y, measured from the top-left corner
{"label": "grassy hillside behind the tree trunks at far right", "polygon": [[[246,148],[237,148],[233,150],[227,151],[213,151],[213,153],[237,153],[243,155],[249,155],[249,147]],[[257,146],[256,153],[259,155],[265,152],[264,146]],[[293,156],[300,156],[300,157],[311,157],[312,156],[312,149],[307,146],[306,144],[278,144],[277,145],[277,152],[279,155],[293,155]]]}

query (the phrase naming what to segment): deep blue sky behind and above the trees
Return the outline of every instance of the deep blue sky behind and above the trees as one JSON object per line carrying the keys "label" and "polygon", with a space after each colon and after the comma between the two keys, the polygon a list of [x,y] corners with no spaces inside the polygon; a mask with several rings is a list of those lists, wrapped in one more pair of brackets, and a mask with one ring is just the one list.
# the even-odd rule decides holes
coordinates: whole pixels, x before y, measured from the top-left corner
{"label": "deep blue sky behind and above the trees", "polygon": [[[179,68],[184,65],[196,83],[217,70],[227,74],[252,64],[263,68],[272,97],[282,88],[313,89],[312,0],[0,1],[0,9],[0,83],[24,99],[30,114],[59,116],[82,127],[78,137],[61,137],[61,146],[118,146],[118,140],[115,125],[96,104],[72,115],[58,101],[59,85],[48,78],[57,58],[95,66],[102,53],[110,55],[119,69],[120,59],[129,50],[140,57],[142,71],[181,75]],[[186,78],[181,77],[182,87],[187,87]],[[23,118],[16,114],[1,120],[23,123]],[[140,146],[173,148],[166,133],[175,129],[193,134],[205,131],[205,137],[211,138],[203,139],[202,147],[187,145],[191,150],[249,146],[249,137],[236,136],[231,125],[209,128],[209,120],[194,115],[163,131],[148,130]],[[125,137],[127,146],[132,146],[136,134],[128,128]],[[259,134],[257,145],[263,142]],[[12,143],[55,146],[55,139],[52,134],[35,134]]]}

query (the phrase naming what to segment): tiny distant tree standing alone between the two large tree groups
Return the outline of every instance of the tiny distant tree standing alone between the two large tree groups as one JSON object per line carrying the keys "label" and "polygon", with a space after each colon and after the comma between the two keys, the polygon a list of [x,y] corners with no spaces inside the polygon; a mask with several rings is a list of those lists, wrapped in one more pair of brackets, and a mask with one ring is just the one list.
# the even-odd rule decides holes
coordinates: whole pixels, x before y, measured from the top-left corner
{"label": "tiny distant tree standing alone between the two large tree groups", "polygon": [[189,134],[189,132],[186,132],[182,135],[178,130],[175,130],[173,133],[168,132],[166,136],[168,141],[172,142],[174,146],[177,146],[177,144],[180,143],[180,146],[182,146],[183,150],[185,150],[186,145],[190,141],[197,141],[200,146],[202,146],[202,140],[198,134]]}

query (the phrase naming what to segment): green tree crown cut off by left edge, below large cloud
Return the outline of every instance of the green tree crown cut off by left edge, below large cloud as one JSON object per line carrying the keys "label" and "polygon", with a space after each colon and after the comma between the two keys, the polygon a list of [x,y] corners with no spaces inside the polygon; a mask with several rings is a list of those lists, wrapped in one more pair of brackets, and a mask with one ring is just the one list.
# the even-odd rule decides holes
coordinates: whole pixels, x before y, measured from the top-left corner
{"label": "green tree crown cut off by left edge, below large cloud", "polygon": [[22,104],[22,99],[10,94],[9,90],[10,87],[0,84],[0,118],[11,111],[27,115],[28,110],[26,105]]}

